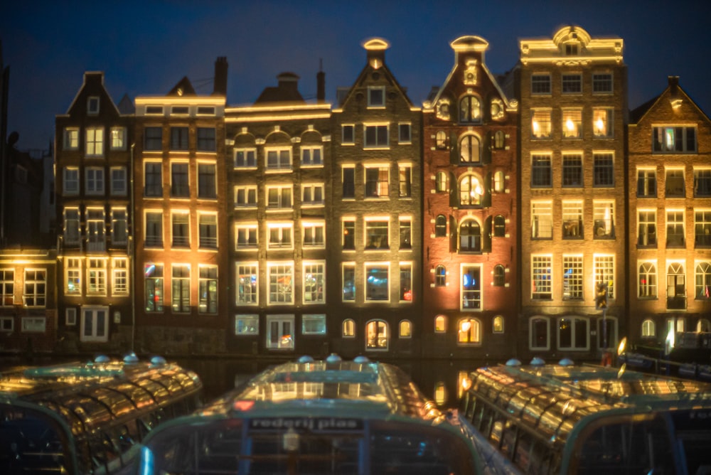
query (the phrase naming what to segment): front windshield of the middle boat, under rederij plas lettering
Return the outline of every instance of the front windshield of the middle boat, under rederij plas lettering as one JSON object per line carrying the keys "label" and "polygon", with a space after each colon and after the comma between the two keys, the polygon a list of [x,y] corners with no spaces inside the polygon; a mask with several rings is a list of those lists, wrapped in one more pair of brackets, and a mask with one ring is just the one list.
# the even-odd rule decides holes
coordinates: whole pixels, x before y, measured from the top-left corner
{"label": "front windshield of the middle boat, under rederij plas lettering", "polygon": [[469,474],[466,442],[444,429],[358,417],[255,417],[156,433],[141,474]]}

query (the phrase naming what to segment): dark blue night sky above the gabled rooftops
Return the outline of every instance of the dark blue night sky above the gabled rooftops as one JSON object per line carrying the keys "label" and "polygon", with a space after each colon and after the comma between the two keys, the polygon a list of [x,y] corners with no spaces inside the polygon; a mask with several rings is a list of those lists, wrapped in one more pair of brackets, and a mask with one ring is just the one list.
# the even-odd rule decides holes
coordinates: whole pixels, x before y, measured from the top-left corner
{"label": "dark blue night sky above the gabled rooftops", "polygon": [[486,63],[503,73],[518,60],[520,38],[550,38],[567,24],[623,38],[631,108],[678,75],[711,113],[707,0],[23,0],[0,6],[9,131],[19,132],[20,149],[46,148],[55,115],[66,112],[87,70],[105,72],[115,102],[165,94],[185,75],[208,94],[218,56],[228,58],[231,105],[253,102],[282,71],[301,76],[299,90],[313,97],[319,60],[332,102],[336,87],[351,85],[365,65],[360,45],[373,36],[390,42],[387,65],[422,105],[449,74],[455,38],[486,39]]}

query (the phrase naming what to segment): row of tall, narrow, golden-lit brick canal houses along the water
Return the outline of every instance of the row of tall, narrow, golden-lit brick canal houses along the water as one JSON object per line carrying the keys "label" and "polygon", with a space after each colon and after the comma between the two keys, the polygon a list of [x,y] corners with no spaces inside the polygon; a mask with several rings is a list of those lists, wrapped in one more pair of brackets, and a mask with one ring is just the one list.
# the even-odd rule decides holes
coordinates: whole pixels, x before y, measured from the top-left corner
{"label": "row of tall, narrow, golden-lit brick canal houses along the water", "polygon": [[388,46],[333,104],[321,71],[229,105],[226,58],[208,95],[85,73],[55,257],[3,252],[0,346],[579,360],[710,330],[711,122],[678,78],[629,112],[621,38],[560,28],[494,75],[463,36],[420,106]]}

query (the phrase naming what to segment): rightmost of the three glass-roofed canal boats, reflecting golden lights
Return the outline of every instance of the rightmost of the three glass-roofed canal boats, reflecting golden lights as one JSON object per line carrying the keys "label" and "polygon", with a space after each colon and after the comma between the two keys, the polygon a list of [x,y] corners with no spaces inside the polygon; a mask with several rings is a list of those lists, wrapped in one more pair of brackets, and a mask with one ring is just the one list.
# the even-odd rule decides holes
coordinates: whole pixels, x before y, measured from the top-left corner
{"label": "rightmost of the three glass-roofed canal boats, reflecting golden lights", "polygon": [[492,473],[711,474],[710,384],[532,363],[466,381],[459,417]]}

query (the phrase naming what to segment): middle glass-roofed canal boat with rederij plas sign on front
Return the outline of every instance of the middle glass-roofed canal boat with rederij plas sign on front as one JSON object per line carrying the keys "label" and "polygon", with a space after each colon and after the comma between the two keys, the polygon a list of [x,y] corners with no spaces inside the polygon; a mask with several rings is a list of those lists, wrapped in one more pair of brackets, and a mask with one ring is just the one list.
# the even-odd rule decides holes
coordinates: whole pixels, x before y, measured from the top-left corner
{"label": "middle glass-roofed canal boat with rederij plas sign on front", "polygon": [[136,473],[479,474],[455,422],[394,365],[306,357],[161,425]]}

